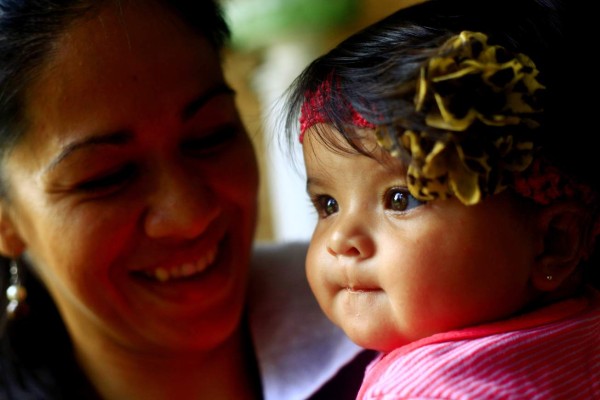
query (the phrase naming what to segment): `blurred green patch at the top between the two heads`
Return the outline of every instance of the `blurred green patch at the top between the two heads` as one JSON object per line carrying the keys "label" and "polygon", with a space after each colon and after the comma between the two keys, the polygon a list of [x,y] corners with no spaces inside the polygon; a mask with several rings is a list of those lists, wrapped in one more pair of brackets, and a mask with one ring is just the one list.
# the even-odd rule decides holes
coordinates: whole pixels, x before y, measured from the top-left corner
{"label": "blurred green patch at the top between the two heads", "polygon": [[255,48],[353,21],[358,0],[222,0],[232,45]]}

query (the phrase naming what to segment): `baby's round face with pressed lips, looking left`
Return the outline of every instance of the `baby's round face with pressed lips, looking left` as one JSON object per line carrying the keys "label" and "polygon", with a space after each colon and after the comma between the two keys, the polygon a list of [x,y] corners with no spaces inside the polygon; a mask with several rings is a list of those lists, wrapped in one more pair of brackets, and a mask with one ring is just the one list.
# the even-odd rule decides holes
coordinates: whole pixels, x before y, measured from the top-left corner
{"label": "baby's round face with pressed lips, looking left", "polygon": [[308,280],[323,311],[357,344],[388,351],[506,317],[531,300],[534,224],[508,194],[475,206],[423,203],[373,132],[362,140],[375,149],[369,158],[332,151],[312,129],[303,150],[319,218]]}

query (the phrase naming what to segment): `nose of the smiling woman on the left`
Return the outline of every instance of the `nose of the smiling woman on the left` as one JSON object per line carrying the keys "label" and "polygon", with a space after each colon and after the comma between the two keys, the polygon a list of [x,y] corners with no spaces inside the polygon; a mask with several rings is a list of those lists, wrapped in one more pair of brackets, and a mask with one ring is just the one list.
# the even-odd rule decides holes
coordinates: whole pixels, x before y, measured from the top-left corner
{"label": "nose of the smiling woman on the left", "polygon": [[162,173],[153,185],[144,218],[152,238],[192,239],[219,215],[218,195],[206,182],[184,172]]}

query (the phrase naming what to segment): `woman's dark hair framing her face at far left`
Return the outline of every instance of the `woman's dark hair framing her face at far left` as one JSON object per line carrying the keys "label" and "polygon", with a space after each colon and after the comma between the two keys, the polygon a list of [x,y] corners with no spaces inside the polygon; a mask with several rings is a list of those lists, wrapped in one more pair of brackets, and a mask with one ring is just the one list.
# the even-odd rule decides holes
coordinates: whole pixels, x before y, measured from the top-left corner
{"label": "woman's dark hair framing her face at far left", "polygon": [[[27,131],[25,92],[51,56],[56,40],[80,18],[109,2],[155,2],[221,50],[229,28],[217,0],[0,0],[0,200],[4,156]],[[77,366],[71,342],[53,300],[29,268],[21,268],[29,313],[7,323],[4,292],[8,260],[0,257],[0,398],[95,398]]]}

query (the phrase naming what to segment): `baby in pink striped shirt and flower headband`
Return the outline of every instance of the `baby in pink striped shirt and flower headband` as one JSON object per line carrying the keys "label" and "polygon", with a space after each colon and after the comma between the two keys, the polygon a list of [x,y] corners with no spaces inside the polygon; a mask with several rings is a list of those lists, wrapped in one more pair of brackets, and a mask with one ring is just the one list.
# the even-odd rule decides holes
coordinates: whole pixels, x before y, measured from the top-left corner
{"label": "baby in pink striped shirt and flower headband", "polygon": [[565,13],[426,1],[290,87],[309,283],[381,352],[359,398],[600,398],[600,196]]}

